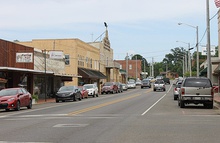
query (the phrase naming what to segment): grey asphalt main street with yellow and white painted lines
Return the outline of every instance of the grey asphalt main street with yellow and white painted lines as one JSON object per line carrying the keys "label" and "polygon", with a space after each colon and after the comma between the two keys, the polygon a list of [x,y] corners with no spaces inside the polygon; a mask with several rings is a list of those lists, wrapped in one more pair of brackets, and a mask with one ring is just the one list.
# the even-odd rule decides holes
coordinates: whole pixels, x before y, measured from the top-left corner
{"label": "grey asphalt main street with yellow and white painted lines", "polygon": [[0,110],[0,143],[219,143],[219,109],[179,108],[166,86]]}

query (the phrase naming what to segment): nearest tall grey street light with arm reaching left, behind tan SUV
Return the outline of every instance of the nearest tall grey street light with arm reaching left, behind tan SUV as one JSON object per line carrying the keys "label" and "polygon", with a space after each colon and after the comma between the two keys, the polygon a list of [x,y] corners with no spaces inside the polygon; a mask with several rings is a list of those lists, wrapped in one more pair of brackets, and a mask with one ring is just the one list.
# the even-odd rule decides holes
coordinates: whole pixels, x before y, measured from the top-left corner
{"label": "nearest tall grey street light with arm reaching left, behind tan SUV", "polygon": [[178,23],[178,25],[187,25],[189,27],[195,28],[196,29],[196,60],[197,60],[197,64],[196,64],[196,76],[199,77],[199,28],[198,26],[192,26],[186,23]]}

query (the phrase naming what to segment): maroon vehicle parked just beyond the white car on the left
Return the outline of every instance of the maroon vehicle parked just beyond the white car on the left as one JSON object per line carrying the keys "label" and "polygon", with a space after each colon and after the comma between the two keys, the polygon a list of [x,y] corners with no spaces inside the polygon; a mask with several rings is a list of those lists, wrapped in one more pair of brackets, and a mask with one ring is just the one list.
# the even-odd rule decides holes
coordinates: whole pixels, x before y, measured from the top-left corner
{"label": "maroon vehicle parked just beyond the white car on the left", "polygon": [[115,82],[106,82],[102,86],[101,94],[108,94],[108,93],[117,93],[118,92],[118,86],[115,84]]}

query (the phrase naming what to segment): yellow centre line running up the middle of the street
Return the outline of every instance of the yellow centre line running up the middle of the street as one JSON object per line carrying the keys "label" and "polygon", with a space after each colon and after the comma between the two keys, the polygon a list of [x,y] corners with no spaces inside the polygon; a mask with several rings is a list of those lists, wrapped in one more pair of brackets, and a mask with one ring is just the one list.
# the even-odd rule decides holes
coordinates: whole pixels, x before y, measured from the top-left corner
{"label": "yellow centre line running up the middle of the street", "polygon": [[74,116],[74,115],[81,114],[81,113],[84,113],[84,112],[88,112],[88,111],[91,111],[91,110],[95,110],[95,109],[98,109],[98,108],[101,108],[101,107],[105,107],[105,106],[108,106],[108,105],[111,105],[111,104],[122,102],[122,101],[125,101],[125,100],[128,100],[128,99],[132,99],[132,98],[138,97],[140,95],[141,94],[135,94],[133,96],[129,96],[129,97],[121,98],[121,99],[118,99],[118,100],[113,100],[113,101],[110,101],[110,102],[106,102],[106,103],[103,103],[103,104],[91,106],[91,107],[88,107],[88,108],[84,108],[84,109],[81,109],[81,110],[71,112],[68,115],[69,116]]}

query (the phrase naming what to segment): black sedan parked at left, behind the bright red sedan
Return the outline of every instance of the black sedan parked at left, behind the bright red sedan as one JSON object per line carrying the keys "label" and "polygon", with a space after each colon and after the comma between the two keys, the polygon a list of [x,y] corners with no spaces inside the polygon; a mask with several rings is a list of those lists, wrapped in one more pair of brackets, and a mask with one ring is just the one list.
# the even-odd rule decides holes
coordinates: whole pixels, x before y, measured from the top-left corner
{"label": "black sedan parked at left, behind the bright red sedan", "polygon": [[56,103],[66,100],[76,101],[81,100],[81,93],[77,86],[62,86],[56,93]]}

